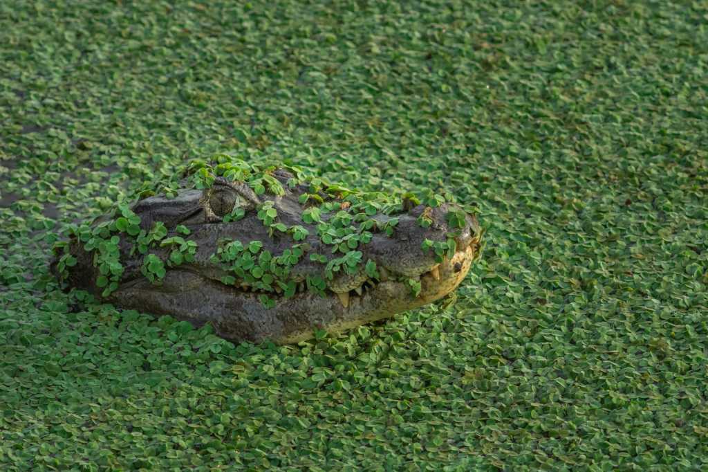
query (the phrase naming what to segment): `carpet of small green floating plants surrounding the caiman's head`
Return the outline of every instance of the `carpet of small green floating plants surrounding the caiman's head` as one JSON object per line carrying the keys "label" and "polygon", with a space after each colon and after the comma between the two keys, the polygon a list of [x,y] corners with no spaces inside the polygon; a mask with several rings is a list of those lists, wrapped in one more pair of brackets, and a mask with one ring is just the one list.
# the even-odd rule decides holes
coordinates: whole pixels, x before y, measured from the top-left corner
{"label": "carpet of small green floating plants surrounding the caiman's head", "polygon": [[[0,467],[708,467],[705,1],[0,2]],[[438,303],[234,346],[47,271],[212,152],[447,191]]]}

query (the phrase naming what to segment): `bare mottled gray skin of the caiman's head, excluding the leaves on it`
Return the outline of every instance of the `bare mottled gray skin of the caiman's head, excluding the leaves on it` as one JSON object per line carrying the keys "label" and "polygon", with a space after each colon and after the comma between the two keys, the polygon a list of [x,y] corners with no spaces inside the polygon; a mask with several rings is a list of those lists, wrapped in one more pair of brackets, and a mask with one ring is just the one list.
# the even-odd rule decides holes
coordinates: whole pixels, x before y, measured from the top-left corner
{"label": "bare mottled gray skin of the caiman's head, excluding the leaves on it", "polygon": [[[292,177],[284,170],[278,170],[274,175],[283,184]],[[239,193],[241,204],[249,208],[245,218],[234,223],[223,223],[211,208],[210,195],[224,186]],[[118,290],[104,298],[105,302],[154,315],[171,315],[197,327],[209,323],[217,335],[236,342],[265,339],[278,343],[298,342],[312,337],[315,328],[338,332],[442,298],[464,279],[479,250],[480,230],[473,215],[467,215],[461,229],[450,228],[445,214],[454,205],[446,203],[428,210],[433,224],[423,228],[416,218],[426,207],[418,205],[407,213],[396,215],[399,223],[392,237],[375,232],[371,242],[358,247],[363,252],[364,262],[372,259],[387,273],[381,281],[367,281],[361,264],[357,274],[338,272],[333,280],[327,281],[324,298],[307,289],[298,290],[291,298],[270,293],[269,296],[275,298],[275,307],[265,308],[258,300],[258,292],[252,292],[249,287],[224,285],[220,279],[226,273],[210,262],[210,256],[217,252],[219,240],[224,239],[240,240],[244,244],[260,240],[263,249],[274,255],[292,247],[294,242],[290,235],[276,232],[270,237],[268,229],[256,218],[258,203],[273,200],[282,223],[302,225],[309,230],[309,237],[304,241],[311,247],[309,252],[333,257],[331,246],[319,240],[316,226],[302,221],[305,207],[298,203],[298,196],[307,191],[307,186],[299,185],[294,189],[285,186],[285,191],[284,196],[256,196],[246,184],[217,180],[212,189],[205,191],[183,190],[173,199],[152,196],[138,201],[132,210],[140,216],[144,229],[148,230],[154,222],[161,221],[169,230],[168,236],[176,234],[176,225],[185,225],[191,230],[188,239],[198,244],[195,262],[169,269],[162,283],[154,285],[141,274],[142,254],[131,256],[130,242],[121,240],[121,262],[125,273]],[[323,217],[326,219],[329,215]],[[374,218],[384,221],[390,217],[375,215]],[[426,253],[421,249],[426,238],[444,241],[446,233],[452,231],[459,233],[455,238],[457,252],[453,257],[438,263],[432,251]],[[101,293],[95,286],[98,271],[92,264],[91,254],[87,254],[76,240],[72,240],[69,250],[77,257],[78,263],[69,270],[67,281],[98,296]],[[156,248],[152,252],[166,259],[168,249]],[[323,276],[323,269],[324,264],[312,262],[305,254],[292,269],[291,279],[304,281],[308,274]],[[404,281],[396,280],[403,277],[421,281],[421,292],[417,297],[412,295]],[[367,283],[362,286],[365,281]],[[360,295],[357,289],[361,291]],[[347,295],[348,304],[345,306],[342,298],[344,296],[346,300]]]}

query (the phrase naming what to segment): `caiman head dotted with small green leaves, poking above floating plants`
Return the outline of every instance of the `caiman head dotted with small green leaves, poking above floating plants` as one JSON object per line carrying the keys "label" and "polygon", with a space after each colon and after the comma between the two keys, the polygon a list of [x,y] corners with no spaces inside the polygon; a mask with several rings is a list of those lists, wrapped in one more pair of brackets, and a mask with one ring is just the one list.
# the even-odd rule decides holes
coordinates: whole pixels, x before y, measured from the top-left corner
{"label": "caiman head dotted with small green leaves, poking above floating plants", "polygon": [[51,269],[118,308],[287,344],[446,296],[482,245],[476,217],[431,191],[356,191],[222,154],[72,225]]}

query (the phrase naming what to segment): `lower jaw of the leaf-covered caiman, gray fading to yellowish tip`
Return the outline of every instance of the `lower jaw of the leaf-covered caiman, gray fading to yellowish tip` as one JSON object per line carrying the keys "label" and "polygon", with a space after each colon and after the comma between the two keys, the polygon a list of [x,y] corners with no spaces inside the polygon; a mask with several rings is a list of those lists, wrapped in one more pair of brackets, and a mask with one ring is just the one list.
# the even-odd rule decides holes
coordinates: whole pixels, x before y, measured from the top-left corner
{"label": "lower jaw of the leaf-covered caiman, gray fading to yellowish tip", "polygon": [[[418,297],[413,297],[404,281],[389,280],[368,288],[362,296],[350,298],[346,308],[336,293],[329,290],[325,297],[304,291],[285,298],[265,291],[242,291],[179,268],[168,271],[162,287],[152,285],[147,279],[135,279],[123,283],[109,298],[120,301],[125,308],[171,315],[196,327],[209,323],[217,335],[235,342],[270,339],[280,344],[294,343],[311,338],[316,328],[328,332],[348,330],[442,298],[455,290],[467,275],[474,249],[466,247],[438,264],[439,281],[430,271],[419,276],[421,293]],[[458,271],[455,271],[456,263],[459,263]],[[273,308],[263,308],[258,300],[261,293],[275,298]]]}

